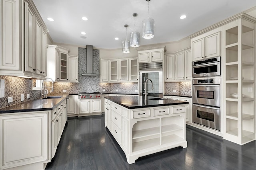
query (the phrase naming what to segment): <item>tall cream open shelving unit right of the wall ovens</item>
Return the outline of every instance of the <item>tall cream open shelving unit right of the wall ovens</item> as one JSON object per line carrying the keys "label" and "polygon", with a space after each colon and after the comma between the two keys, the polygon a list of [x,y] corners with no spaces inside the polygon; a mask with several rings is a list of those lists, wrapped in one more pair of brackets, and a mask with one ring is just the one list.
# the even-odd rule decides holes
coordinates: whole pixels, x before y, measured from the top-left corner
{"label": "tall cream open shelving unit right of the wall ovens", "polygon": [[224,139],[243,145],[255,140],[255,21],[223,28]]}

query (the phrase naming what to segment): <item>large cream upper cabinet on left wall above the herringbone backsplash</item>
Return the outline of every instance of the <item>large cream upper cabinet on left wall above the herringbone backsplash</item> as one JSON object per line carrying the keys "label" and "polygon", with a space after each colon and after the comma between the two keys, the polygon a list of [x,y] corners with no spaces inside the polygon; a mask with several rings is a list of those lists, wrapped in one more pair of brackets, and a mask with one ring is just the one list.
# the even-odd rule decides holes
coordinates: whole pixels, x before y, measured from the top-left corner
{"label": "large cream upper cabinet on left wall above the herringbone backsplash", "polygon": [[0,75],[45,78],[47,28],[34,3],[3,0],[0,8]]}

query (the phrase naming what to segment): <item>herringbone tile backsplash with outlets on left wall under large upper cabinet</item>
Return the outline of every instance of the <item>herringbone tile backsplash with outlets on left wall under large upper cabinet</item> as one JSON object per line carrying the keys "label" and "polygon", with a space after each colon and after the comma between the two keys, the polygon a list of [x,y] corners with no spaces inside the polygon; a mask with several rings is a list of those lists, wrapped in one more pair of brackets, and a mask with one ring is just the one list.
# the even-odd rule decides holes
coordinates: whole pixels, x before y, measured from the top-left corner
{"label": "herringbone tile backsplash with outlets on left wall under large upper cabinet", "polygon": [[[20,103],[20,94],[25,94],[24,102],[40,98],[40,90],[31,90],[30,79],[14,76],[0,76],[0,79],[5,80],[4,98],[0,98],[0,108]],[[29,99],[26,98],[27,94],[30,94]],[[10,96],[13,97],[13,102],[8,103]]]}

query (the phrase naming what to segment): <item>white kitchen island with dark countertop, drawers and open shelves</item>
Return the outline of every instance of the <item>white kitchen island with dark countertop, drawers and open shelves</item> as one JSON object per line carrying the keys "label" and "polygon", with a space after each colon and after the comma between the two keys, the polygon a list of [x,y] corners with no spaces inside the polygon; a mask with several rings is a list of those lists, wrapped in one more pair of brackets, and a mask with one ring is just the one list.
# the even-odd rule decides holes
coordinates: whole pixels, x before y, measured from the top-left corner
{"label": "white kitchen island with dark countertop, drawers and open shelves", "polygon": [[105,97],[105,127],[132,164],[141,156],[187,147],[188,103],[150,96]]}

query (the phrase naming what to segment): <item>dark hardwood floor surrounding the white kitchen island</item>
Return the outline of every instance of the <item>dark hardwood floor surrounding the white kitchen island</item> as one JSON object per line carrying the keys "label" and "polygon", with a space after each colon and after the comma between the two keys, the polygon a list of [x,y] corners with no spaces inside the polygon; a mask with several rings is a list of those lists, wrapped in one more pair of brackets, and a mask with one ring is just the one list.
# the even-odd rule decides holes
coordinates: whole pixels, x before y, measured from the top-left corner
{"label": "dark hardwood floor surrounding the white kitchen island", "polygon": [[187,126],[188,147],[144,156],[134,164],[104,127],[104,115],[68,119],[46,170],[256,170],[256,142],[240,146]]}

